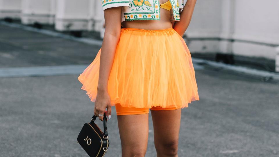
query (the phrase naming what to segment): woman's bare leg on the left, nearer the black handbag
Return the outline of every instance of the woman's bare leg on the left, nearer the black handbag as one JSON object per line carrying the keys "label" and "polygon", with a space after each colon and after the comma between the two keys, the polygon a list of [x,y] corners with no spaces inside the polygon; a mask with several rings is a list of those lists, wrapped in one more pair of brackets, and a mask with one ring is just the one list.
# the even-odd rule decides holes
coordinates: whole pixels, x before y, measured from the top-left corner
{"label": "woman's bare leg on the left, nearer the black handbag", "polygon": [[148,140],[148,113],[118,115],[122,157],[144,157]]}

